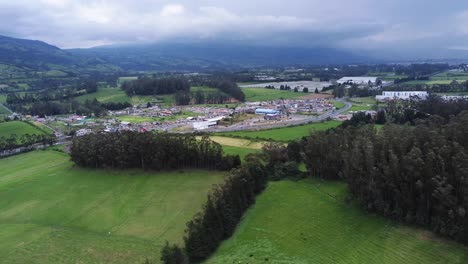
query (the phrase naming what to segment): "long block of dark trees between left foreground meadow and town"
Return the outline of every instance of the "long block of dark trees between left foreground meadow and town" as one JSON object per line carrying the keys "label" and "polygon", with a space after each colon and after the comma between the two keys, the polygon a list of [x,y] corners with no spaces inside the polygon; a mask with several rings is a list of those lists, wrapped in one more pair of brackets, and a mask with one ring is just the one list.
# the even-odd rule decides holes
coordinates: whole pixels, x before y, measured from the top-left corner
{"label": "long block of dark trees between left foreground meadow and town", "polygon": [[207,136],[168,133],[90,134],[75,137],[71,158],[79,166],[92,168],[228,170],[240,164],[239,156],[223,155],[221,145]]}

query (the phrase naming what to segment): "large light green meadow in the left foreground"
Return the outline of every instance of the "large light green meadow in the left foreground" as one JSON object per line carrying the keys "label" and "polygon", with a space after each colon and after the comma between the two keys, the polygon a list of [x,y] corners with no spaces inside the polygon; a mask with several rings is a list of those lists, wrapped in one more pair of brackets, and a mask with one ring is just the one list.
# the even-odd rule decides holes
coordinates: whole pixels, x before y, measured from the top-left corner
{"label": "large light green meadow in the left foreground", "polygon": [[1,263],[159,263],[223,174],[75,167],[67,154],[0,159]]}

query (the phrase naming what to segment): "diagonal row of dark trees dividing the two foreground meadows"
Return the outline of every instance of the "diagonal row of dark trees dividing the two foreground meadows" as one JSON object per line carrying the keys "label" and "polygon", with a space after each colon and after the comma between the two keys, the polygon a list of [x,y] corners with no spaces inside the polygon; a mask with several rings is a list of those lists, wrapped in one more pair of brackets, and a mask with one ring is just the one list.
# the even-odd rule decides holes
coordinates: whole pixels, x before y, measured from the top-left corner
{"label": "diagonal row of dark trees dividing the two foreground meadows", "polygon": [[162,249],[163,263],[197,263],[207,259],[223,240],[232,236],[255,197],[266,187],[267,169],[256,155],[232,170],[223,184],[215,186],[201,212],[187,223],[184,247]]}

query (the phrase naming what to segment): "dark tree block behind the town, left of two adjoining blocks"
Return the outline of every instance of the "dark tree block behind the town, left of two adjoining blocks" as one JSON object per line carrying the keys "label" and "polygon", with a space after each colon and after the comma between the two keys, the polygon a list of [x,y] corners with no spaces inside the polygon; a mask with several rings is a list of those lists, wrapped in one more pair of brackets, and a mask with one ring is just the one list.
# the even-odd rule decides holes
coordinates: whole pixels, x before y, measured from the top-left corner
{"label": "dark tree block behind the town, left of two adjoining blocks", "polygon": [[190,83],[183,77],[150,78],[140,77],[134,81],[126,81],[122,89],[129,95],[163,95],[190,92]]}

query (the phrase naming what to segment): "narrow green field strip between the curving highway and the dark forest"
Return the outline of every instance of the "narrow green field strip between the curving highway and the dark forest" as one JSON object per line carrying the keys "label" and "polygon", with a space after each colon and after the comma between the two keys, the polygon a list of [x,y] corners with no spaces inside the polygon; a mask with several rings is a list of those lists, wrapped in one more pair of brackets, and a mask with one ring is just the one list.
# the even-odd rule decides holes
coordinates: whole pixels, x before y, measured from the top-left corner
{"label": "narrow green field strip between the curving highway and the dark forest", "polygon": [[220,136],[234,136],[242,137],[252,140],[273,140],[279,142],[288,142],[291,140],[300,139],[302,137],[310,135],[312,131],[322,131],[328,130],[330,128],[335,128],[339,126],[341,122],[339,121],[326,121],[323,123],[313,123],[303,126],[294,126],[294,127],[285,127],[285,128],[275,128],[270,130],[261,130],[261,131],[234,131],[234,132],[223,132],[217,133]]}

